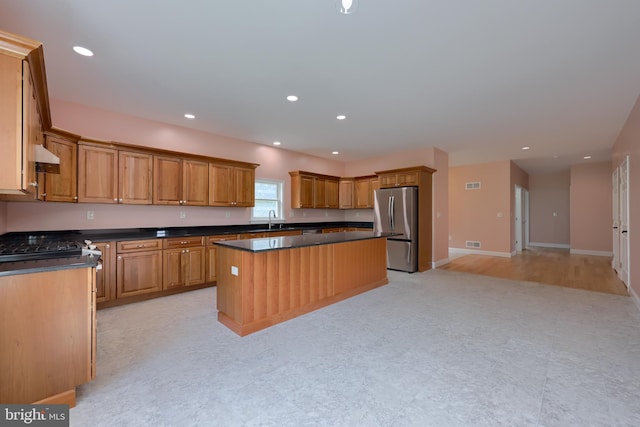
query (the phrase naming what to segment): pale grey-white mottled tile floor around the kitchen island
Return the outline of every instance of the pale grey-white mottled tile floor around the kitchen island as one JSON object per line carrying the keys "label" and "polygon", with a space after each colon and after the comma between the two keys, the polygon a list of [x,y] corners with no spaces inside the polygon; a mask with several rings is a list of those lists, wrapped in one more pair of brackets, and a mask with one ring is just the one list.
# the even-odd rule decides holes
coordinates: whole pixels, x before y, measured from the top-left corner
{"label": "pale grey-white mottled tile floor around the kitchen island", "polygon": [[215,288],[100,310],[72,426],[638,426],[629,297],[431,270],[244,338]]}

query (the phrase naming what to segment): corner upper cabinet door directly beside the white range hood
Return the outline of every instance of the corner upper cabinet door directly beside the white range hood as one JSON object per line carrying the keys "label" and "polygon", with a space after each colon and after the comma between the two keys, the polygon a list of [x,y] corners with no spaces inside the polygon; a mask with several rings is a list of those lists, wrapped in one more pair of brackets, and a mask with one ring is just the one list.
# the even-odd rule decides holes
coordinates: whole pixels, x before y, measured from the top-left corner
{"label": "corner upper cabinet door directly beside the white range hood", "polygon": [[65,139],[47,136],[47,149],[60,158],[60,173],[45,174],[42,197],[47,202],[77,202],[78,145]]}

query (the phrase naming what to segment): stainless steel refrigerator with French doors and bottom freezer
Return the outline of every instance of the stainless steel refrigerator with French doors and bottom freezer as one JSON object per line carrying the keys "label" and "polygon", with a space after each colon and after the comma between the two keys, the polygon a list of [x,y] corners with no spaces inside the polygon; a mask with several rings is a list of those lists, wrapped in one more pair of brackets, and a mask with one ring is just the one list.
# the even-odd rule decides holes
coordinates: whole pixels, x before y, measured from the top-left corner
{"label": "stainless steel refrigerator with French doors and bottom freezer", "polygon": [[387,268],[418,271],[418,189],[383,188],[375,192],[373,228],[398,233],[387,238]]}

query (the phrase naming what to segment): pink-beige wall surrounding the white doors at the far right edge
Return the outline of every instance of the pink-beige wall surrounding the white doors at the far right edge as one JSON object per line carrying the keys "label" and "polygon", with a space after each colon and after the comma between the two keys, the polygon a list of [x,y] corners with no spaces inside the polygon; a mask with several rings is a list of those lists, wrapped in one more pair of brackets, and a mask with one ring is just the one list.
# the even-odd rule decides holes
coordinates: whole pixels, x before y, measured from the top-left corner
{"label": "pink-beige wall surrounding the white doors at the far right edge", "polygon": [[629,282],[636,295],[640,295],[640,235],[634,234],[640,221],[640,97],[613,146],[611,170],[618,167],[624,156],[629,156]]}

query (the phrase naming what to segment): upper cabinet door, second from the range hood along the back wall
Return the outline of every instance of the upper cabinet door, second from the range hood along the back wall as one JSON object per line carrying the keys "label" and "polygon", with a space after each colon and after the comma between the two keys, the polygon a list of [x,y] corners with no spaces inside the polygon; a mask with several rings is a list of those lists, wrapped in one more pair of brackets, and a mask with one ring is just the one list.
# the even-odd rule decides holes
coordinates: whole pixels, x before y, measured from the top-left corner
{"label": "upper cabinet door, second from the range hood along the back wall", "polygon": [[118,203],[118,151],[78,147],[78,201]]}

